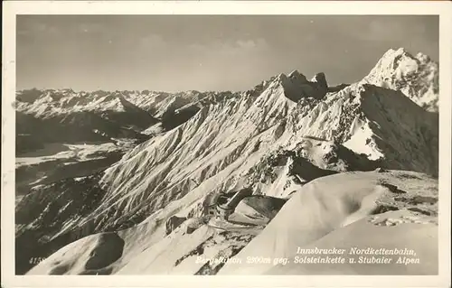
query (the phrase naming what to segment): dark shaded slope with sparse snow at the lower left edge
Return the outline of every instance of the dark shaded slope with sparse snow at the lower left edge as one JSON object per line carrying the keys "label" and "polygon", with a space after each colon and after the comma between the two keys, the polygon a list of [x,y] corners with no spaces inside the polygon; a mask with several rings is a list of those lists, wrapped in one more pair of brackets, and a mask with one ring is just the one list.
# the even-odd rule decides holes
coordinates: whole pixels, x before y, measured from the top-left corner
{"label": "dark shaded slope with sparse snow at the lower left edge", "polygon": [[77,221],[99,205],[105,192],[99,175],[66,178],[34,186],[15,207],[15,271],[24,274],[36,263],[31,258],[51,255],[74,238],[46,245],[68,223]]}

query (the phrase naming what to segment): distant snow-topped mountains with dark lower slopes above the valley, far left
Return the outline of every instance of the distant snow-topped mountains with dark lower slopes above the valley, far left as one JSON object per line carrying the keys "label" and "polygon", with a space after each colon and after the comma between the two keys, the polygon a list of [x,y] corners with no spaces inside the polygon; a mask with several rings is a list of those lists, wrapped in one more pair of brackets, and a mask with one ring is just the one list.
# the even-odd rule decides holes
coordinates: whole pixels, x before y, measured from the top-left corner
{"label": "distant snow-topped mountains with dark lower slopes above the valley, far left", "polygon": [[16,110],[44,121],[78,125],[102,135],[119,137],[120,130],[136,133],[157,123],[157,119],[133,105],[120,93],[86,93],[61,90],[19,91]]}

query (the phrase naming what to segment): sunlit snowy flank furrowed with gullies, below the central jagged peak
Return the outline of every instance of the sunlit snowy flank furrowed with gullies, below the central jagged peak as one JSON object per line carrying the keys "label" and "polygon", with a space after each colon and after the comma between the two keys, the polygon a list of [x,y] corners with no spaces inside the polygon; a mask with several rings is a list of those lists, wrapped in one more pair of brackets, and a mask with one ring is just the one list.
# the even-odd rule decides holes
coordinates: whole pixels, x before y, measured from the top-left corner
{"label": "sunlit snowy flank furrowed with gullies, below the central jagged peak", "polygon": [[[225,183],[215,189],[230,190],[265,154],[294,150],[306,136],[344,145],[386,168],[437,173],[438,120],[400,92],[353,85],[296,103],[285,96],[284,80],[275,79],[258,98],[204,107],[184,125],[138,145],[105,172],[107,199],[93,217],[110,208],[121,218],[152,212],[213,177]],[[308,157],[334,149],[324,146],[308,148]],[[219,177],[239,163],[226,179]]]}

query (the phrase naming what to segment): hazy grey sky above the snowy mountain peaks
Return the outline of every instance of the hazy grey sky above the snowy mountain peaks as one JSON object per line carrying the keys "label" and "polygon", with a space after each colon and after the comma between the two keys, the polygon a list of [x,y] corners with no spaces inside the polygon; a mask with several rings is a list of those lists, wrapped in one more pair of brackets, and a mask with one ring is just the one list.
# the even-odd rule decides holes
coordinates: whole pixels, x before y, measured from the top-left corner
{"label": "hazy grey sky above the snowy mountain peaks", "polygon": [[20,15],[17,88],[245,90],[362,79],[390,48],[438,60],[438,16]]}

